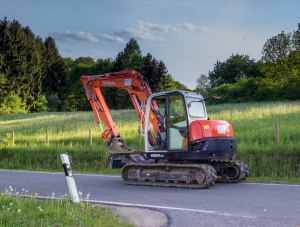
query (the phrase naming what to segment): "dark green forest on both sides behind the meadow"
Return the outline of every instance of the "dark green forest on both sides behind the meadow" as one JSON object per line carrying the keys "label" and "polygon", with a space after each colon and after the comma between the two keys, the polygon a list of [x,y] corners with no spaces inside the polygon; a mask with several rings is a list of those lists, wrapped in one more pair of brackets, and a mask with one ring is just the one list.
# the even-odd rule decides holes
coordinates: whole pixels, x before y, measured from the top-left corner
{"label": "dark green forest on both sides behind the meadow", "polygon": [[[0,114],[90,110],[81,75],[134,69],[153,92],[189,90],[168,73],[162,60],[143,55],[130,39],[116,58],[63,58],[52,37],[42,39],[19,21],[0,20]],[[216,56],[217,58],[217,56]],[[196,86],[197,85],[197,86]],[[258,61],[232,54],[195,81],[208,103],[300,99],[300,25],[269,38]],[[112,109],[131,107],[125,91],[103,90]],[[217,98],[213,98],[217,97]]]}

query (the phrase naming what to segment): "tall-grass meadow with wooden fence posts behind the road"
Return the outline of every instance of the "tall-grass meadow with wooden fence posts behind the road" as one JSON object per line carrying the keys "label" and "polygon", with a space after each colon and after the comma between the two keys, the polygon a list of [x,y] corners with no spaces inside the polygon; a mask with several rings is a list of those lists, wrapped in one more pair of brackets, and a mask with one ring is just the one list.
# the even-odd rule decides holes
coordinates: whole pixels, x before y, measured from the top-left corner
{"label": "tall-grass meadow with wooden fence posts behind the road", "polygon": [[[224,104],[209,106],[208,113],[210,119],[233,125],[237,157],[249,165],[252,180],[300,182],[300,102]],[[112,111],[112,116],[127,144],[142,149],[134,111]],[[279,144],[274,139],[275,119],[280,125]],[[59,154],[68,153],[74,171],[111,173],[106,170],[108,151],[100,136],[92,112],[0,116],[0,168],[61,171]]]}

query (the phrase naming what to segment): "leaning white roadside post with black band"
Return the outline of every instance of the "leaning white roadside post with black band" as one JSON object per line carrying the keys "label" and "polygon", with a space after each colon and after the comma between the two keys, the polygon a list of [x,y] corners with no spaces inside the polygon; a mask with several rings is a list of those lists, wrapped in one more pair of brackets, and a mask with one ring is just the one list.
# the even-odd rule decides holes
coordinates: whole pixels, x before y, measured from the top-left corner
{"label": "leaning white roadside post with black band", "polygon": [[75,180],[73,178],[71,164],[70,164],[70,161],[69,161],[69,156],[66,155],[66,154],[61,154],[60,158],[61,158],[61,162],[62,162],[63,167],[64,167],[66,180],[67,180],[67,184],[68,184],[68,188],[69,188],[71,198],[72,198],[74,203],[79,203],[80,199],[79,199],[79,196],[78,196]]}

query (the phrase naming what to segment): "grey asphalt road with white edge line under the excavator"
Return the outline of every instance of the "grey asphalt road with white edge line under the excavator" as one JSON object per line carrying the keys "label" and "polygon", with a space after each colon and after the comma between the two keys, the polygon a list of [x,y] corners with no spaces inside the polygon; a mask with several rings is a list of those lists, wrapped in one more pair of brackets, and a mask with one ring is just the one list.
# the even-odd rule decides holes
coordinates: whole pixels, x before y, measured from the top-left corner
{"label": "grey asphalt road with white edge line under the excavator", "polygon": [[[118,176],[74,174],[83,199],[165,213],[175,226],[300,226],[300,185],[216,184],[210,189],[125,185]],[[13,187],[56,196],[68,192],[64,174],[0,170],[0,190]]]}

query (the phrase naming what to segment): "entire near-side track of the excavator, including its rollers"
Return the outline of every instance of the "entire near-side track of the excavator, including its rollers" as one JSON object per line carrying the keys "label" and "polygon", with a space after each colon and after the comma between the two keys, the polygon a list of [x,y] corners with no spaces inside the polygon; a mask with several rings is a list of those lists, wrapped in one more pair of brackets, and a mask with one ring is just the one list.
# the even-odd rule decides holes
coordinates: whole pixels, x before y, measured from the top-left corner
{"label": "entire near-side track of the excavator, including its rollers", "polygon": [[209,188],[216,170],[209,164],[128,163],[122,168],[126,184],[177,188]]}

